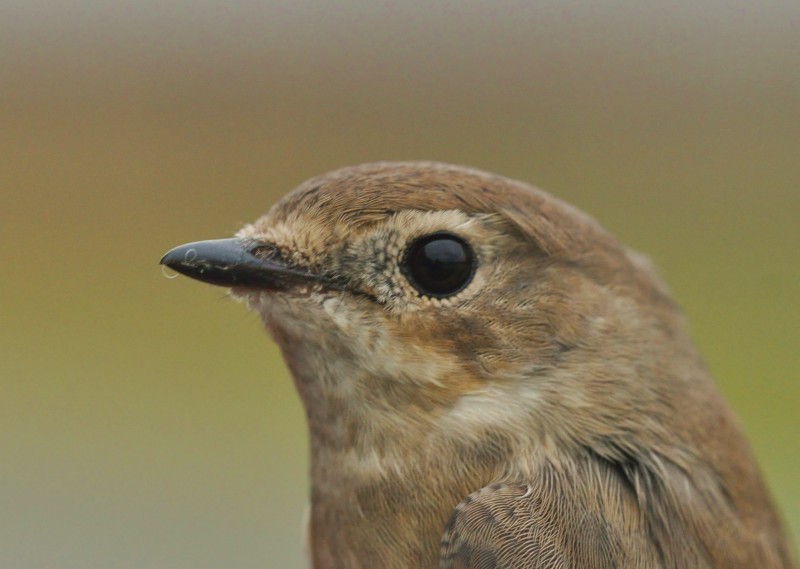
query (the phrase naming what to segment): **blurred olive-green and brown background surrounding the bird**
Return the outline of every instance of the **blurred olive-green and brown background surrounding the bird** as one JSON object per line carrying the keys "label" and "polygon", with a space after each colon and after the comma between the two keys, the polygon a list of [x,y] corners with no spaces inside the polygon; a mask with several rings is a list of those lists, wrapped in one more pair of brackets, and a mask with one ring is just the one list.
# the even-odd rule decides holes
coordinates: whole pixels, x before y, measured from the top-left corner
{"label": "blurred olive-green and brown background surrounding the bird", "polygon": [[647,252],[797,541],[800,3],[0,5],[0,567],[302,566],[284,365],[158,260],[434,159]]}

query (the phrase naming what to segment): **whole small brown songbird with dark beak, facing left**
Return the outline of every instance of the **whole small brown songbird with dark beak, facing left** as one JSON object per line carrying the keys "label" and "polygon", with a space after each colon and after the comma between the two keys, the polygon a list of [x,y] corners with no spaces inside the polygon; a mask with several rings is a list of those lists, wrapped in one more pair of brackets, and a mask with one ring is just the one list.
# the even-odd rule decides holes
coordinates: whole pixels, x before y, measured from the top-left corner
{"label": "whole small brown songbird with dark beak, facing left", "polygon": [[795,567],[665,285],[538,189],[344,168],[161,263],[280,346],[315,569]]}

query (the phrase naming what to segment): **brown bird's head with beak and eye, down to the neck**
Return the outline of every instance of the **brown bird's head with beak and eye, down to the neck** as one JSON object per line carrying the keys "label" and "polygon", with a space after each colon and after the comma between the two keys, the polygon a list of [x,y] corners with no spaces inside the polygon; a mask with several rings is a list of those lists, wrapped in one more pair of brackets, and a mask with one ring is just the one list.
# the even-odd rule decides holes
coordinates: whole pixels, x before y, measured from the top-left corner
{"label": "brown bird's head with beak and eye, down to the neck", "polygon": [[678,368],[696,364],[642,256],[540,190],[463,167],[344,168],[162,263],[260,315],[323,446],[502,433],[628,452],[674,423]]}

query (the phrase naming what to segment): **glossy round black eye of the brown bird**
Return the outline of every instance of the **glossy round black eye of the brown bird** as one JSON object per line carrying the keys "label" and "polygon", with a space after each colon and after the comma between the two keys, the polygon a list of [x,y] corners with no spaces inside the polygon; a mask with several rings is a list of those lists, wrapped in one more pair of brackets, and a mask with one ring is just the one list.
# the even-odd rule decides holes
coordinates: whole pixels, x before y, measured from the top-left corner
{"label": "glossy round black eye of the brown bird", "polygon": [[475,273],[475,254],[451,233],[433,233],[413,241],[403,259],[409,282],[426,296],[444,298],[461,291]]}

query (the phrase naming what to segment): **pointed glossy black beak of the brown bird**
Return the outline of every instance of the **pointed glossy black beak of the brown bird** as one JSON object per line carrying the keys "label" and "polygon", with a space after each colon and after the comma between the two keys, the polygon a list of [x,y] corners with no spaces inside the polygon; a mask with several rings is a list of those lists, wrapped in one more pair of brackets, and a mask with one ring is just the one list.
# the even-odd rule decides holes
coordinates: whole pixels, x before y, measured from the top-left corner
{"label": "pointed glossy black beak of the brown bird", "polygon": [[175,247],[161,264],[205,283],[287,290],[318,282],[317,275],[288,266],[269,244],[253,239],[215,239]]}

